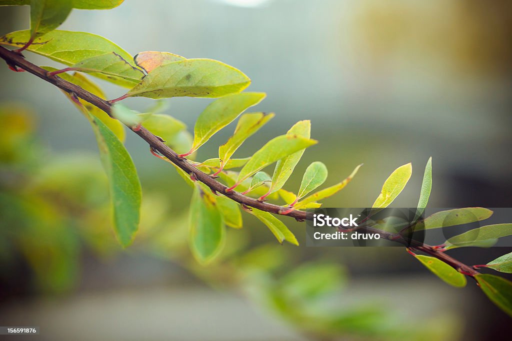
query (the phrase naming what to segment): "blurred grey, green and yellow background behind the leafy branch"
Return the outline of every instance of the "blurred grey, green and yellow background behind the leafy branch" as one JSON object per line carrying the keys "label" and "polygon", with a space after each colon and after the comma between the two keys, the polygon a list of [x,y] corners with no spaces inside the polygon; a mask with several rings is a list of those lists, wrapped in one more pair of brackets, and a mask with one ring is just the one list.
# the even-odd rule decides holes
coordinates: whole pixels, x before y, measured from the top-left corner
{"label": "blurred grey, green and yellow background behind the leafy branch", "polygon": [[[506,1],[130,0],[74,10],[60,29],[102,35],[132,55],[168,51],[242,70],[249,90],[268,95],[255,110],[276,117],[236,156],[309,119],[319,143],[286,189],[297,190],[312,161],[327,165],[326,186],[365,164],[327,207],[371,205],[408,162],[413,176],[394,206],[414,207],[432,156],[431,207],[492,208],[512,207],[511,20]],[[28,7],[0,8],[0,34],[28,27]],[[505,339],[509,317],[473,281],[447,286],[403,248],[279,245],[244,214],[221,260],[199,266],[186,241],[191,190],[132,133],[142,222],[122,249],[86,119],[30,74],[2,67],[0,77],[1,325],[40,326],[41,340]],[[109,98],[123,94],[94,81]],[[175,98],[164,112],[191,130],[209,102]],[[197,160],[216,157],[233,129]],[[286,223],[304,244],[304,225]],[[481,264],[506,252],[452,254]]]}

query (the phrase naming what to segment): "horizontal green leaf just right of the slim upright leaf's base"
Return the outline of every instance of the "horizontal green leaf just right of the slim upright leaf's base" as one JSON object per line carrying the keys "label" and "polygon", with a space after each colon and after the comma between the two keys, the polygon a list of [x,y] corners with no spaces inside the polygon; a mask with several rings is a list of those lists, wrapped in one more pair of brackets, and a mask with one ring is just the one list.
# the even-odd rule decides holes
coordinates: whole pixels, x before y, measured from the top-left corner
{"label": "horizontal green leaf just right of the slim upright leaf's base", "polygon": [[434,213],[425,218],[425,230],[445,228],[447,226],[468,224],[485,220],[493,215],[493,211],[483,207],[466,207]]}

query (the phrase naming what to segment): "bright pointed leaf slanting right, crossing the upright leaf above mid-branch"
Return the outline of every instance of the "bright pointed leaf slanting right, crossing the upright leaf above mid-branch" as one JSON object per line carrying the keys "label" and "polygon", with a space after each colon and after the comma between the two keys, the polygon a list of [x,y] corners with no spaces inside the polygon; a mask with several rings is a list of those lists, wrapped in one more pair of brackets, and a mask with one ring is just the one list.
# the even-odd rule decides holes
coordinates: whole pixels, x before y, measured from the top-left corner
{"label": "bright pointed leaf slanting right, crossing the upright leaf above mid-branch", "polygon": [[304,139],[296,135],[281,135],[273,138],[252,155],[251,160],[240,171],[237,184],[266,166],[316,143],[315,140]]}

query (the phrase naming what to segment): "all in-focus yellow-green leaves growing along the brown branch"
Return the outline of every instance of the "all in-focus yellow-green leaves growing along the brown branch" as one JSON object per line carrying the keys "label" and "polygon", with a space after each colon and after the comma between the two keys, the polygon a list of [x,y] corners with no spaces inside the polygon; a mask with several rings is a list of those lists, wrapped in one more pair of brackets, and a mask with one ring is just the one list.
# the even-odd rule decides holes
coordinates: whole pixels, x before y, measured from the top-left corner
{"label": "all in-focus yellow-green leaves growing along the brown branch", "polygon": [[[272,113],[242,113],[263,100],[265,94],[243,92],[249,86],[250,79],[241,71],[220,61],[211,59],[187,59],[172,53],[147,51],[134,58],[113,42],[103,37],[83,32],[55,30],[66,19],[72,8],[105,9],[113,8],[122,1],[16,1],[0,0],[0,5],[30,5],[30,30],[17,31],[0,37],[0,43],[46,56],[67,65],[65,69],[55,70],[47,67],[49,75],[62,78],[81,86],[89,92],[105,98],[101,89],[80,73],[102,78],[129,90],[119,98],[112,100],[112,116],[107,116],[98,108],[82,100],[68,96],[91,123],[101,162],[109,177],[111,201],[114,212],[116,235],[123,246],[129,245],[134,238],[140,219],[141,189],[139,179],[129,153],[124,148],[124,130],[121,124],[135,129],[143,124],[148,130],[161,137],[165,143],[181,153],[181,156],[193,158],[195,152],[212,135],[240,117],[232,137],[219,147],[219,157],[210,158],[194,165],[201,171],[219,176],[228,191],[238,190],[245,195],[260,200],[282,200],[282,214],[296,209],[318,208],[319,202],[342,190],[356,174],[352,174],[340,183],[310,194],[323,185],[327,179],[327,168],[321,162],[312,163],[306,170],[297,194],[283,189],[295,166],[306,148],[314,145],[310,139],[310,122],[300,121],[294,124],[286,134],[276,137],[262,146],[253,155],[245,158],[232,158],[241,144],[262,128],[272,117]],[[67,72],[74,71],[74,74]],[[199,115],[194,135],[188,133],[185,124],[179,120],[153,110],[138,113],[126,108],[118,101],[128,97],[147,97],[152,99],[172,97],[218,98],[209,104]],[[159,156],[166,160],[163,156]],[[168,160],[166,160],[168,161]],[[262,170],[276,164],[272,176]],[[239,171],[232,169],[240,168]],[[191,179],[189,174],[177,168],[183,178],[194,188],[190,204],[189,243],[197,260],[203,264],[219,255],[225,239],[226,226],[242,227],[241,207],[224,196],[209,192],[202,183]],[[412,174],[411,164],[396,169],[386,180],[382,191],[372,208],[389,206],[406,186]],[[417,219],[422,215],[428,202],[432,186],[431,160],[426,166],[423,185],[418,203]],[[280,241],[298,244],[293,233],[284,223],[272,214],[257,209],[244,208],[268,226]],[[480,221],[490,214],[481,208],[461,209],[458,212],[440,212],[421,220],[425,229],[434,229],[452,225]],[[460,213],[460,214],[459,214]],[[369,225],[376,222],[369,221]],[[489,246],[497,238],[512,234],[512,224],[497,224],[466,232],[446,241],[442,250],[462,246]],[[507,258],[508,257],[508,258]],[[437,258],[417,256],[422,264],[447,283],[464,286],[465,277],[456,269]],[[509,255],[505,255],[489,264],[498,271],[509,271]],[[512,314],[512,285],[510,282],[493,276],[476,276],[482,290],[498,306]]]}

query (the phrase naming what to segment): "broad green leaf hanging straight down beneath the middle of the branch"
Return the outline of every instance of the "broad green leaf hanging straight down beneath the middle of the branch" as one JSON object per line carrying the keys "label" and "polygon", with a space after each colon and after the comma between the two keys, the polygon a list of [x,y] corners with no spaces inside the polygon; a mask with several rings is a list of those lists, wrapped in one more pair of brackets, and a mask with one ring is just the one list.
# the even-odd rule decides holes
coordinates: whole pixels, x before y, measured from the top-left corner
{"label": "broad green leaf hanging straight down beneath the middle of the branch", "polygon": [[215,198],[196,186],[189,215],[190,248],[201,264],[211,262],[224,246],[225,228]]}

